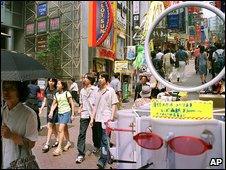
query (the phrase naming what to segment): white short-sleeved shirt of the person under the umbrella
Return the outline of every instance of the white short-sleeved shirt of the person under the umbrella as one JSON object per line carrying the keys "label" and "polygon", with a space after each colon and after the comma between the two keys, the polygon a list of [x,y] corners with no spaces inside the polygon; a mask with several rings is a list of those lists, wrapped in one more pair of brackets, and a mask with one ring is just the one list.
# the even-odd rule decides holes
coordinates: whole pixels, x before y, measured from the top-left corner
{"label": "white short-sleeved shirt of the person under the umbrella", "polygon": [[[28,106],[18,103],[13,109],[9,110],[5,106],[2,110],[3,123],[12,132],[31,140],[38,140],[38,122],[36,113]],[[19,147],[13,140],[2,138],[3,169],[10,166],[10,163],[19,156]],[[26,151],[21,150],[21,157],[26,157]]]}

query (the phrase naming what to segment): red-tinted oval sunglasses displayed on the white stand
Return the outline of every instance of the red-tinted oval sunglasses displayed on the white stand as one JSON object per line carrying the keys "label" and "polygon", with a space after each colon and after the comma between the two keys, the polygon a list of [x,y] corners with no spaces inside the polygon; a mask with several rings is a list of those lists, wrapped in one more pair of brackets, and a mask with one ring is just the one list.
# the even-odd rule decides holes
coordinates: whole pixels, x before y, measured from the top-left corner
{"label": "red-tinted oval sunglasses displayed on the white stand", "polygon": [[[107,133],[111,131],[135,132],[131,129],[111,128],[109,127],[109,121],[105,124]],[[164,140],[153,132],[140,132],[133,136],[133,139],[142,148],[150,150],[158,150],[164,144]],[[166,144],[174,152],[190,156],[200,155],[213,148],[211,144],[194,136],[177,136],[166,141]]]}

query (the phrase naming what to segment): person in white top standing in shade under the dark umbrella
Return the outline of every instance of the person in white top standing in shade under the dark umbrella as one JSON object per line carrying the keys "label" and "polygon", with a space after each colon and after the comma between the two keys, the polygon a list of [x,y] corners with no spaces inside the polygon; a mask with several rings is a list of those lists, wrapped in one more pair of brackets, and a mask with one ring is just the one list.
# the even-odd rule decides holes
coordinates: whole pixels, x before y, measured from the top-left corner
{"label": "person in white top standing in shade under the dark umbrella", "polygon": [[1,125],[3,169],[9,168],[10,163],[19,157],[27,157],[27,150],[31,152],[38,139],[37,115],[22,103],[28,94],[24,82],[3,82],[3,98],[6,102]]}

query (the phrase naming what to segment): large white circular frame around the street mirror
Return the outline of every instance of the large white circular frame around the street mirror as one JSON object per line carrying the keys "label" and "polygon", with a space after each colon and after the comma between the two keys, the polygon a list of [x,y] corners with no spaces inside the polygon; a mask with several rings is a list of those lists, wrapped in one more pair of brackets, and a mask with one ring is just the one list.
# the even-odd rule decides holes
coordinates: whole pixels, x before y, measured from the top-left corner
{"label": "large white circular frame around the street mirror", "polygon": [[214,7],[213,5],[204,3],[204,2],[200,2],[200,1],[187,1],[187,2],[182,2],[176,5],[173,5],[169,8],[167,8],[160,16],[158,16],[156,18],[156,20],[154,21],[153,24],[151,24],[147,36],[145,38],[145,43],[144,43],[144,49],[145,49],[145,58],[147,61],[147,65],[151,71],[151,73],[154,75],[154,77],[161,82],[162,84],[164,84],[166,87],[176,90],[176,91],[187,91],[187,92],[194,92],[194,91],[200,91],[202,89],[205,89],[207,87],[210,87],[211,85],[213,85],[214,83],[220,81],[222,79],[222,77],[225,75],[225,67],[222,69],[222,71],[211,81],[197,86],[197,87],[184,87],[184,86],[178,86],[175,84],[172,84],[168,81],[166,81],[164,78],[162,78],[157,71],[155,70],[155,67],[153,66],[152,62],[150,61],[151,58],[151,54],[150,54],[150,50],[149,50],[149,41],[150,41],[150,36],[151,33],[153,32],[154,28],[157,26],[157,24],[165,17],[167,16],[167,14],[169,14],[170,12],[172,12],[173,10],[179,9],[179,8],[184,8],[184,7],[189,7],[189,6],[198,6],[198,7],[202,7],[202,8],[206,8],[209,9],[210,11],[216,13],[225,23],[225,15],[222,11],[220,11],[218,8]]}

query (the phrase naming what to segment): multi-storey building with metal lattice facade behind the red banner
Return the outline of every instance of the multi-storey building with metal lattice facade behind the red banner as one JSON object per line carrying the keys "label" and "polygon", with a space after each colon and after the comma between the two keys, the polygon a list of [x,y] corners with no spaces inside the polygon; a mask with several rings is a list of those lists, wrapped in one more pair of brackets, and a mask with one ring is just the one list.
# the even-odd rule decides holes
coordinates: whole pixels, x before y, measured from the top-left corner
{"label": "multi-storey building with metal lattice facade behind the red banner", "polygon": [[[111,4],[115,60],[125,60],[132,45],[132,3]],[[88,47],[88,9],[88,1],[1,1],[1,46],[25,52],[65,79],[99,71],[100,63],[111,73],[114,61]]]}

